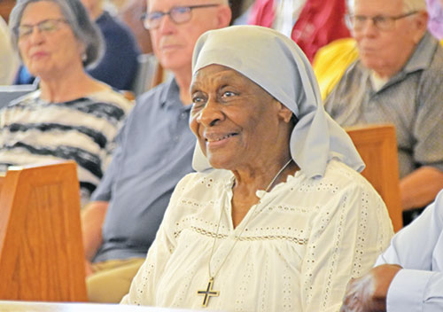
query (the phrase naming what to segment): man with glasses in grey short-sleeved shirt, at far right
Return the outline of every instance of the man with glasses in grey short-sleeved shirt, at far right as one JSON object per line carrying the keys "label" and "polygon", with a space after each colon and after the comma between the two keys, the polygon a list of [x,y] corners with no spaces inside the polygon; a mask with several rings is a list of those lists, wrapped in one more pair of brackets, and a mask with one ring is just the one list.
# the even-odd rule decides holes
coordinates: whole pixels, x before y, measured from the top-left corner
{"label": "man with glasses in grey short-sleeved shirt, at far right", "polygon": [[425,0],[353,0],[359,58],[325,100],[342,126],[393,123],[404,210],[443,188],[443,50],[426,30]]}

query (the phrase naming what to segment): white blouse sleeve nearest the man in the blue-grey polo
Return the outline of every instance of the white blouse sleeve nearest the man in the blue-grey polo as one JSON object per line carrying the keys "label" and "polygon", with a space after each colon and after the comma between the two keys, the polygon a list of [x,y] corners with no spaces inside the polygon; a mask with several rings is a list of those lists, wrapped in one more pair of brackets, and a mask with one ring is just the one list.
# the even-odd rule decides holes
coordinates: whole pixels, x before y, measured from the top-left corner
{"label": "white blouse sleeve nearest the man in the blue-grey polo", "polygon": [[177,203],[188,180],[189,175],[186,175],[177,183],[146,260],[132,280],[129,292],[123,297],[121,304],[155,306],[155,285],[159,285],[159,279],[176,246],[174,229],[179,215],[176,213]]}

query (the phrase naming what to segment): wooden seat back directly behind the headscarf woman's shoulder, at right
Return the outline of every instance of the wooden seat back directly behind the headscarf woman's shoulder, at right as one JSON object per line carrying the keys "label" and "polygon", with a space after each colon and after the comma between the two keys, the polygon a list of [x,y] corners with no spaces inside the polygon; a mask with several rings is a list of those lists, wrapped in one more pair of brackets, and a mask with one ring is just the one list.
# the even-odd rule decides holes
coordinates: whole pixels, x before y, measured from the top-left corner
{"label": "wooden seat back directly behind the headscarf woman's shoulder, at right", "polygon": [[361,175],[385,201],[393,229],[403,226],[400,203],[399,160],[395,128],[391,124],[346,128],[366,164]]}

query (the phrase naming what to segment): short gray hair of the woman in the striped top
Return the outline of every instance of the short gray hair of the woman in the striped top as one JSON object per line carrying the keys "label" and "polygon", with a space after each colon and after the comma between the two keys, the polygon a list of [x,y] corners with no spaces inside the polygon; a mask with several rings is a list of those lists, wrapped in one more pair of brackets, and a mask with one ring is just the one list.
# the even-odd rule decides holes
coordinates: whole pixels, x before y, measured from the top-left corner
{"label": "short gray hair of the woman in the striped top", "polygon": [[83,66],[89,66],[97,62],[103,55],[103,37],[94,22],[89,19],[89,14],[80,0],[18,0],[9,18],[13,47],[19,51],[17,29],[27,5],[42,1],[53,2],[58,5],[75,37],[84,44],[86,55],[82,59]]}

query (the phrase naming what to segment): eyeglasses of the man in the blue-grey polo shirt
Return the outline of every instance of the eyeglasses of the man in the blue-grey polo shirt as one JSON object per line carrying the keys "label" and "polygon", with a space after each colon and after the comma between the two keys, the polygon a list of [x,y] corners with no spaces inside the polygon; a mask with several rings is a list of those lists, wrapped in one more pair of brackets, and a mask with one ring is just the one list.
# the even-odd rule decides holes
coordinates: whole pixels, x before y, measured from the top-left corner
{"label": "eyeglasses of the man in the blue-grey polo shirt", "polygon": [[160,26],[161,18],[164,15],[169,15],[175,24],[183,24],[192,18],[192,10],[200,8],[209,8],[212,6],[218,6],[220,4],[200,4],[200,5],[190,5],[190,6],[175,6],[168,12],[151,12],[144,13],[142,20],[144,21],[144,27],[146,29],[156,29]]}

